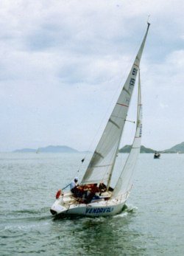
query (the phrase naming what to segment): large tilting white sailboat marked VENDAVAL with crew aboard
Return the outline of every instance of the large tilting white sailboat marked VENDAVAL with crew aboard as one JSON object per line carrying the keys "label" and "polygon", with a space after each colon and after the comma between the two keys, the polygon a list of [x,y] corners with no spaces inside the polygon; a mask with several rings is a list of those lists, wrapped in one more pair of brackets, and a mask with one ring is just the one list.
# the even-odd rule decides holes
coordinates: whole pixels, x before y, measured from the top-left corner
{"label": "large tilting white sailboat marked VENDAVAL with crew aboard", "polygon": [[[72,193],[71,191],[63,193],[59,190],[56,195],[56,201],[50,209],[52,215],[83,215],[96,217],[116,215],[123,209],[124,204],[130,195],[130,190],[132,188],[132,173],[141,148],[142,105],[139,66],[149,25],[150,24],[147,23],[144,39],[116,105],[113,108],[113,112],[107,121],[105,131],[103,132],[101,139],[99,139],[99,143],[96,146],[96,150],[93,152],[93,156],[81,183],[76,187],[78,193]],[[135,87],[137,76],[138,103],[135,136],[124,167],[122,170],[119,170],[120,176],[118,177],[118,181],[116,182],[115,187],[110,187],[121,136],[127,121],[127,112],[129,110],[132,91]]]}

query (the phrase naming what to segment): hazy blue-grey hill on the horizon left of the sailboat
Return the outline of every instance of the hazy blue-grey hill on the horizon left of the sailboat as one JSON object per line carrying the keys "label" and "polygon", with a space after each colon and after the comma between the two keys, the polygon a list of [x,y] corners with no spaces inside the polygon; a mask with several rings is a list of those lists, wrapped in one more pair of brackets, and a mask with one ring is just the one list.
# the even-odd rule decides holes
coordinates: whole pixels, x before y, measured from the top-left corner
{"label": "hazy blue-grey hill on the horizon left of the sailboat", "polygon": [[[32,149],[32,148],[22,148],[18,149],[16,151],[13,151],[15,153],[36,153],[38,149]],[[48,146],[46,148],[39,148],[39,153],[77,153],[77,151],[74,148],[70,148],[68,146]]]}

